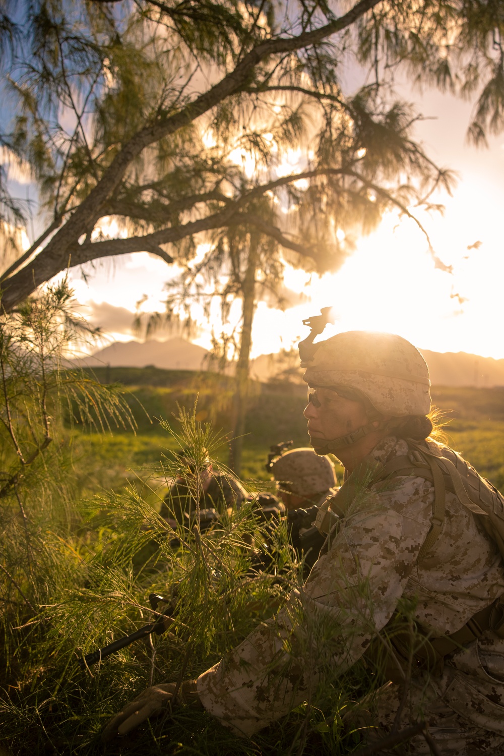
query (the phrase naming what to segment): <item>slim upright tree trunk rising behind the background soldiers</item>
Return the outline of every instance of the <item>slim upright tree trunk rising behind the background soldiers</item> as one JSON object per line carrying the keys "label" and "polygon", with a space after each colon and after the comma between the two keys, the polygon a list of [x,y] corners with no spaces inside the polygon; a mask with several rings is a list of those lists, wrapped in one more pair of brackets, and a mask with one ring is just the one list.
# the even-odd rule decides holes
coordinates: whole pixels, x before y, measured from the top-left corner
{"label": "slim upright tree trunk rising behind the background soldiers", "polygon": [[240,476],[242,466],[243,433],[249,394],[249,360],[252,346],[252,321],[255,311],[255,271],[259,251],[258,234],[250,237],[249,261],[243,279],[243,327],[240,339],[240,355],[237,362],[236,389],[233,399],[233,439],[230,445],[230,468]]}

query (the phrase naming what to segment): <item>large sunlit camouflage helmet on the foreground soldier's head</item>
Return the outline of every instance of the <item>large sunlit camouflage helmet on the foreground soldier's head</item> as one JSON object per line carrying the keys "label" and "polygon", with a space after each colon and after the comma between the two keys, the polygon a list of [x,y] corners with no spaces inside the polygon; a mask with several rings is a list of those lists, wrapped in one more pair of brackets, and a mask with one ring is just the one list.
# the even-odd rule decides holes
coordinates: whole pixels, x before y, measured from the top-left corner
{"label": "large sunlit camouflage helmet on the foreground soldier's head", "polygon": [[382,414],[426,415],[431,409],[428,367],[413,344],[392,333],[347,331],[314,344],[301,362],[311,386],[348,386]]}

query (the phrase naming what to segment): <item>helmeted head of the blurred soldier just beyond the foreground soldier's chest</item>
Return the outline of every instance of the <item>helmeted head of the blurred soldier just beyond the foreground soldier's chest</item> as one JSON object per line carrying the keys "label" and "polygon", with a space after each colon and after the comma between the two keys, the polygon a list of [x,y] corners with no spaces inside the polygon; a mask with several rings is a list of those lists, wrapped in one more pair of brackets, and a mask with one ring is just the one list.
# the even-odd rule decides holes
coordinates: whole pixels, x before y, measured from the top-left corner
{"label": "helmeted head of the blurred soldier just beyond the foreground soldier's chest", "polygon": [[313,449],[291,449],[267,464],[277,482],[277,494],[286,510],[317,506],[335,493],[337,480],[329,457],[320,457]]}

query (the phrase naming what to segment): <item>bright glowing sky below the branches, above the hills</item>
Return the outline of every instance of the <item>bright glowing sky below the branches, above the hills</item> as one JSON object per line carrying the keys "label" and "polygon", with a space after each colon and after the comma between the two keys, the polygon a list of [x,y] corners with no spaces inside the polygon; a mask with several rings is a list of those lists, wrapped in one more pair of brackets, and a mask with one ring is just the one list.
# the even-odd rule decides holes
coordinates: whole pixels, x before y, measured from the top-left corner
{"label": "bright glowing sky below the branches, above the hills", "polygon": [[[408,91],[407,96],[428,116],[417,124],[416,138],[435,162],[459,175],[453,197],[439,198],[446,206],[444,217],[419,214],[435,253],[453,272],[434,266],[425,237],[412,221],[390,213],[373,234],[357,240],[355,253],[337,273],[319,278],[286,268],[292,306],[280,311],[259,302],[252,358],[289,349],[308,333],[303,318],[327,305],[334,308],[336,321],[324,336],[342,330],[385,330],[399,333],[419,349],[504,358],[504,135],[490,139],[490,149],[477,149],[465,141],[470,104],[432,90]],[[144,298],[141,310],[164,311],[165,282],[176,274],[174,266],[136,253],[88,265],[85,278],[74,269],[70,280],[82,313],[104,330],[100,345],[105,345],[141,338],[132,330],[136,303]],[[236,302],[228,330],[239,311]],[[221,330],[217,302],[210,324],[199,308],[193,316],[200,321],[193,341],[209,348],[212,326]],[[155,337],[173,335],[159,330]]]}

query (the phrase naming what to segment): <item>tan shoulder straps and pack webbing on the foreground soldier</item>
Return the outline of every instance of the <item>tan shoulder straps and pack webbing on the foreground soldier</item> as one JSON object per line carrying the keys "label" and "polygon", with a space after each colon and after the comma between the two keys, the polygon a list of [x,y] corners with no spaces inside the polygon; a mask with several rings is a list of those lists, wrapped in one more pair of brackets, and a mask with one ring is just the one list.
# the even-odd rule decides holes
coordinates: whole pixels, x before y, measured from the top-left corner
{"label": "tan shoulder straps and pack webbing on the foreground soldier", "polygon": [[[359,488],[369,488],[380,482],[392,482],[395,477],[415,476],[424,478],[434,485],[431,528],[428,531],[419,557],[425,555],[434,545],[443,527],[446,491],[455,494],[463,507],[470,510],[481,523],[490,538],[499,547],[504,559],[504,497],[490,481],[482,478],[456,451],[436,442],[418,442],[407,438],[407,455],[394,457],[382,465],[372,457],[365,460],[348,476],[348,479],[334,497],[328,498],[320,507],[315,525],[321,532],[329,534],[348,513]],[[442,665],[444,656],[471,643],[485,631],[492,630],[504,637],[504,597],[499,597],[490,606],[477,612],[459,631],[438,638],[428,637],[417,653],[418,668],[433,669]],[[400,649],[394,643],[396,650]]]}

